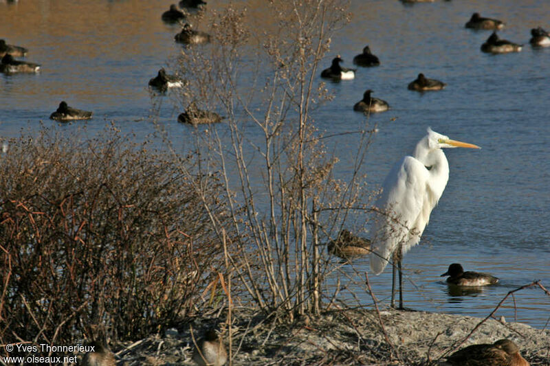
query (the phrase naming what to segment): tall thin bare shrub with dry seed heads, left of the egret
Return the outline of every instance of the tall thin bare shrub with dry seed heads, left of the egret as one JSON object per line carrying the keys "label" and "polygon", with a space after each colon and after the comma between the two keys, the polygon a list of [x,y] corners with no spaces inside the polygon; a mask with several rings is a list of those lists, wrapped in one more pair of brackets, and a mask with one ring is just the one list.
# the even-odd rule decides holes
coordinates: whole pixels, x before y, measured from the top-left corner
{"label": "tall thin bare shrub with dry seed heads, left of the egret", "polygon": [[[316,127],[316,108],[331,99],[319,62],[331,36],[349,21],[347,1],[270,1],[261,19],[234,5],[214,14],[212,44],[186,47],[179,72],[190,80],[181,107],[198,101],[221,112],[221,125],[195,128],[196,171],[221,171],[232,216],[228,271],[267,313],[318,314],[333,268],[322,243],[336,238],[351,209],[366,211],[360,176],[371,133],[358,141],[353,172],[335,177],[339,159]],[[252,55],[252,56],[251,56]],[[204,203],[208,207],[208,203]],[[239,211],[239,208],[244,210]],[[211,216],[221,236],[226,229]],[[278,312],[278,310],[283,310]]]}

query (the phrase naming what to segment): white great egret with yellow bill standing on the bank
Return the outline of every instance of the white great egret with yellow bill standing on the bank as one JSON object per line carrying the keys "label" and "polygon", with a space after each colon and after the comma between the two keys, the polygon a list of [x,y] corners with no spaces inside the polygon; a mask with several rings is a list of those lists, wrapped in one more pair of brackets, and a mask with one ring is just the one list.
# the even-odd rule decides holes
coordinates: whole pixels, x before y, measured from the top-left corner
{"label": "white great egret with yellow bill standing on the bank", "polygon": [[384,181],[376,207],[382,218],[373,225],[371,271],[379,275],[393,254],[391,306],[395,307],[395,264],[399,269],[399,308],[403,308],[401,260],[404,253],[418,244],[430,213],[441,198],[449,180],[449,163],[441,148],[479,148],[454,141],[428,128],[415,154],[397,162]]}

